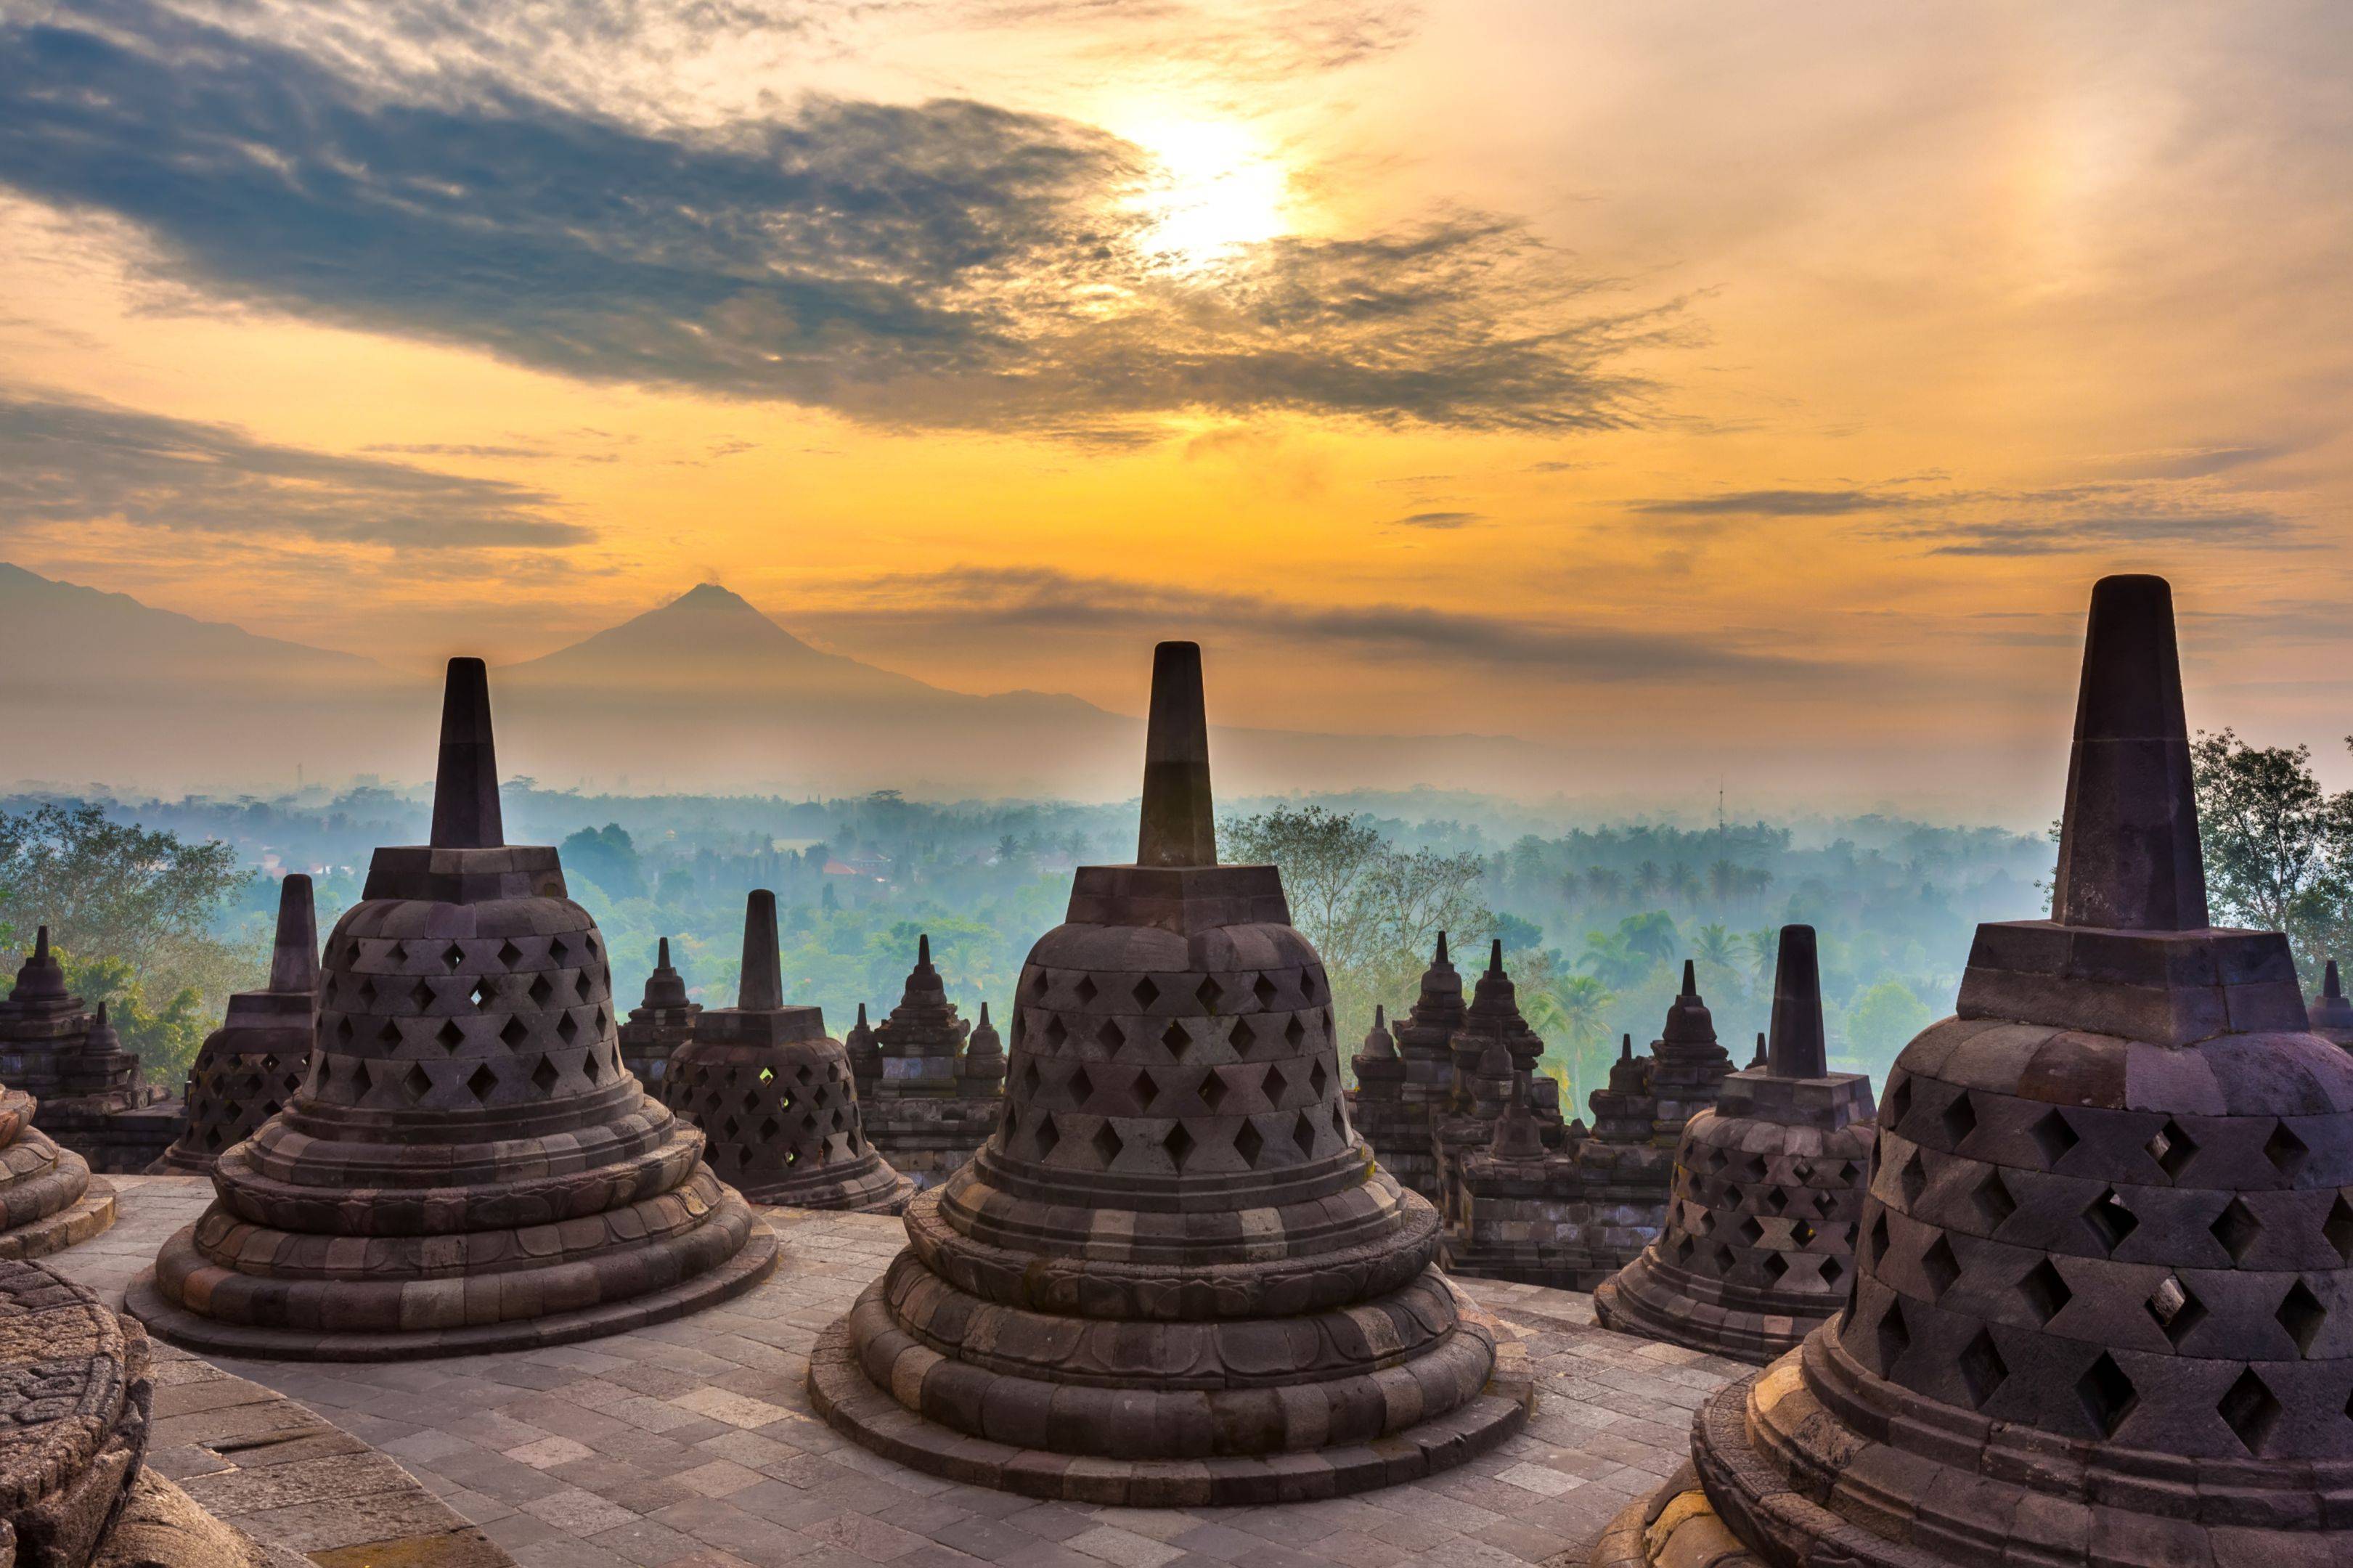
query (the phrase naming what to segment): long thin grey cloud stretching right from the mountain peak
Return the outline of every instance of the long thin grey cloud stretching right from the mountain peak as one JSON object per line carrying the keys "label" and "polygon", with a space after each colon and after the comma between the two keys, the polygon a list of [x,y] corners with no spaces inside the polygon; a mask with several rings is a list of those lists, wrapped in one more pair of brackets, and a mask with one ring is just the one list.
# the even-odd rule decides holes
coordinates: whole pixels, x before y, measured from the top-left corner
{"label": "long thin grey cloud stretching right from the mountain peak", "polygon": [[1760,655],[1704,633],[1673,636],[1600,624],[1518,619],[1424,605],[1297,605],[1254,593],[1080,577],[1054,567],[894,572],[849,586],[847,603],[798,605],[793,622],[828,633],[892,636],[953,622],[1026,636],[1146,626],[1226,633],[1289,650],[1344,647],[1365,659],[1447,662],[1473,669],[1544,669],[1579,680],[1744,678],[1819,680],[1826,664]]}

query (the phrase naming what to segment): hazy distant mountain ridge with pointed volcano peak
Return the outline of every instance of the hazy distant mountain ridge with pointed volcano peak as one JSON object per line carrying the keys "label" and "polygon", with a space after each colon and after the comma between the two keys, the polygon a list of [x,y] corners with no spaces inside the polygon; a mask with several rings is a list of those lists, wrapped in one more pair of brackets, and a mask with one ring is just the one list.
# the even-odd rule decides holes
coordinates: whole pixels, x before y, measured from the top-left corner
{"label": "hazy distant mountain ridge with pointed volcano peak", "polygon": [[[438,685],[0,563],[0,786],[179,791],[419,779]],[[1139,671],[1144,650],[1139,650]],[[816,650],[720,584],[494,671],[499,763],[551,786],[925,798],[1136,791],[1141,718],[1061,692],[969,695]],[[1497,737],[1217,730],[1233,791],[1478,786],[1548,751]],[[1435,765],[1433,765],[1435,763]]]}

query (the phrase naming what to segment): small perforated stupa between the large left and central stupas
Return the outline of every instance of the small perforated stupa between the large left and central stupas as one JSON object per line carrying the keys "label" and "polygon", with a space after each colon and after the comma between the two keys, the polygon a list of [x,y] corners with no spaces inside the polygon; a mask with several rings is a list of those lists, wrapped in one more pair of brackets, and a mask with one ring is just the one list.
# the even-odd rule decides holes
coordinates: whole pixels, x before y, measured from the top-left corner
{"label": "small perforated stupa between the large left and central stupas", "polygon": [[711,1165],[753,1203],[896,1215],[911,1182],[859,1123],[856,1083],[819,1008],[784,1003],[776,895],[744,902],[734,1008],[704,1008],[664,1102],[711,1137]]}

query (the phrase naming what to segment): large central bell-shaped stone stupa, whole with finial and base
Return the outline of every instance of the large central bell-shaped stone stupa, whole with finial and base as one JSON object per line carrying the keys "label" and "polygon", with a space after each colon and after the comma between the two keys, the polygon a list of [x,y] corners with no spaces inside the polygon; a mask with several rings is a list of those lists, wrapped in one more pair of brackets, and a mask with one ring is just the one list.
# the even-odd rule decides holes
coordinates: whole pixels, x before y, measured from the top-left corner
{"label": "large central bell-shaped stone stupa, whole with finial and base", "polygon": [[1021,968],[1002,1125],[906,1231],[809,1389],[932,1474],[1094,1504],[1329,1497],[1527,1417],[1525,1373],[1499,1375],[1497,1328],[1433,1267],[1435,1210],[1348,1125],[1280,873],[1217,864],[1191,643],[1153,659],[1136,864],[1078,869]]}

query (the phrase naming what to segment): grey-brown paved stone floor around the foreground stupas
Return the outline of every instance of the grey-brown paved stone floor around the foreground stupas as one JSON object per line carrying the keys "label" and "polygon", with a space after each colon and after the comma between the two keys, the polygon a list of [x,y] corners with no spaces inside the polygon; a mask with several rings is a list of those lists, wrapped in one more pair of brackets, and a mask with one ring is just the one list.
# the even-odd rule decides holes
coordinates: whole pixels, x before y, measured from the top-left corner
{"label": "grey-brown paved stone floor around the foreground stupas", "polygon": [[[191,1177],[115,1177],[122,1220],[52,1260],[108,1300],[198,1215]],[[682,1323],[546,1351],[318,1366],[221,1361],[414,1471],[522,1568],[1584,1566],[1746,1368],[1593,1328],[1591,1297],[1468,1281],[1529,1344],[1527,1431],[1384,1493],[1261,1509],[1085,1509],[915,1474],[809,1413],[805,1356],[899,1248],[899,1222],[769,1210],[776,1276]]]}

